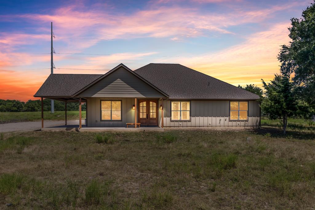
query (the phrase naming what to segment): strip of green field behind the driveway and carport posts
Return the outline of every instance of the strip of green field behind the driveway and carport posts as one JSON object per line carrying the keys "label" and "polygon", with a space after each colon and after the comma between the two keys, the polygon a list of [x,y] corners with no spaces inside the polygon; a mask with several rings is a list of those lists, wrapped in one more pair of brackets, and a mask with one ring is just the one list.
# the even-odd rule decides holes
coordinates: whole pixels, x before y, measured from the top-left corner
{"label": "strip of green field behind the driveway and carport posts", "polygon": [[[85,119],[82,111],[82,119]],[[41,112],[0,112],[0,124],[41,120]],[[44,112],[44,120],[65,120],[65,111]],[[79,111],[67,111],[67,120],[79,120]]]}

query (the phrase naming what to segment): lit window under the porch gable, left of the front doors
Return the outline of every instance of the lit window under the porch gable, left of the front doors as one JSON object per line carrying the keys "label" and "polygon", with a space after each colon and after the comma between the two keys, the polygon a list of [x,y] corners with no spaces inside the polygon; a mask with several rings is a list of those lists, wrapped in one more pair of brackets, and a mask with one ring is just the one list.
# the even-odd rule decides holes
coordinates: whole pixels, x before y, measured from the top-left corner
{"label": "lit window under the porch gable, left of the front doors", "polygon": [[101,100],[101,120],[121,120],[121,103],[122,101]]}

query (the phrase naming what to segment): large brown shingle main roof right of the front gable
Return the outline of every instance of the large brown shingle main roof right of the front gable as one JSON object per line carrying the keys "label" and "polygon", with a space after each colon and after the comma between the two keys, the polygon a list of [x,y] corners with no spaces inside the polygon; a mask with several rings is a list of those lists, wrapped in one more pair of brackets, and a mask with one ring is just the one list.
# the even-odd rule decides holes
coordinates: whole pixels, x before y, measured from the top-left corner
{"label": "large brown shingle main roof right of the front gable", "polygon": [[150,63],[135,73],[174,99],[259,99],[254,93],[180,64]]}

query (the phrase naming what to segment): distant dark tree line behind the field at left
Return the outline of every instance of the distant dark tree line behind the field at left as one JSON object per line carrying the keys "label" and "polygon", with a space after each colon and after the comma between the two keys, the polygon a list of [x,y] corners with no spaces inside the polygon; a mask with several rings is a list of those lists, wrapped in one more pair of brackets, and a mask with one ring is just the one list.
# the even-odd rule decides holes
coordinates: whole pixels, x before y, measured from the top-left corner
{"label": "distant dark tree line behind the field at left", "polygon": [[[50,111],[50,99],[45,98],[43,100],[44,111]],[[28,100],[27,102],[21,102],[19,100],[2,100],[0,99],[0,112],[38,112],[41,111],[40,100]],[[54,101],[55,111],[65,111],[65,102]],[[79,102],[68,102],[67,111],[79,110]],[[86,104],[82,104],[82,110],[86,110]]]}

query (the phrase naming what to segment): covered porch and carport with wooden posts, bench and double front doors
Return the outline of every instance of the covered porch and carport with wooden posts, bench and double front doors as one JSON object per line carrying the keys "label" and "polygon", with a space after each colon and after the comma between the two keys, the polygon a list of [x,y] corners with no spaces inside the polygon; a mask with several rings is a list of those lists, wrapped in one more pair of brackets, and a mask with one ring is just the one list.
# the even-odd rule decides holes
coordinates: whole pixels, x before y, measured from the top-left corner
{"label": "covered porch and carport with wooden posts, bench and double front doors", "polygon": [[[44,125],[43,98],[41,97],[42,131],[163,131],[163,98],[101,98],[101,97],[45,97],[65,102],[64,125]],[[102,102],[121,101],[121,115],[117,122],[102,120]],[[151,103],[150,103],[151,101]],[[77,125],[68,125],[67,103],[79,104]],[[86,103],[86,119],[82,119],[82,103]],[[147,103],[147,107],[146,106]],[[151,104],[151,106],[150,106]],[[97,110],[97,111],[96,111]],[[151,117],[151,118],[150,118]],[[149,121],[151,120],[151,124]],[[99,121],[99,123],[97,123]],[[156,124],[154,124],[156,121]],[[147,124],[144,124],[146,123]],[[153,124],[152,124],[153,122]],[[100,124],[106,123],[106,124]],[[72,123],[73,124],[73,123]],[[127,124],[129,124],[127,126]],[[131,124],[131,125],[130,125]],[[140,124],[140,125],[139,125]]]}

